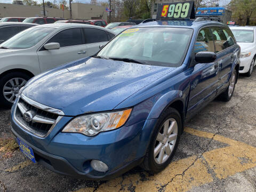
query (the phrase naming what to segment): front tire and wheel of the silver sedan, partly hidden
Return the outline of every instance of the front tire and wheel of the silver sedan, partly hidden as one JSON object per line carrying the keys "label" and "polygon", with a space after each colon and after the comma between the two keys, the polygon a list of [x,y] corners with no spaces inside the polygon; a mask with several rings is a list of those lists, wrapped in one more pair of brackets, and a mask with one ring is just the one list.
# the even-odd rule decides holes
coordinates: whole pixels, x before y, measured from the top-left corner
{"label": "front tire and wheel of the silver sedan, partly hidden", "polygon": [[13,72],[4,75],[0,79],[1,105],[4,107],[11,107],[20,88],[27,83],[28,79],[30,79],[30,76],[20,72]]}

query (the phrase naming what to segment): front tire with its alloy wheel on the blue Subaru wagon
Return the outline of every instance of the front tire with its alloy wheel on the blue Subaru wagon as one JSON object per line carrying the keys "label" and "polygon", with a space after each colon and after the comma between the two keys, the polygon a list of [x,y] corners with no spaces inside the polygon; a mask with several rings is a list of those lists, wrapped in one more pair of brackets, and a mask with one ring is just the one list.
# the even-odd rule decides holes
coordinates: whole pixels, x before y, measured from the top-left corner
{"label": "front tire with its alloy wheel on the blue Subaru wagon", "polygon": [[174,108],[166,109],[158,119],[142,168],[158,173],[168,166],[177,150],[182,121]]}

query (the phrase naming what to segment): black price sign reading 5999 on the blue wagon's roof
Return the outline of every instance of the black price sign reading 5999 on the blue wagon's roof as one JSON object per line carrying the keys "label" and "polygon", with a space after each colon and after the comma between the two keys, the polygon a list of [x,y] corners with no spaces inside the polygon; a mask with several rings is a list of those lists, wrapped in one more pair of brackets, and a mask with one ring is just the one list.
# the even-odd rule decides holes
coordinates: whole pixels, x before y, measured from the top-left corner
{"label": "black price sign reading 5999 on the blue wagon's roof", "polygon": [[158,4],[156,20],[195,19],[194,1]]}

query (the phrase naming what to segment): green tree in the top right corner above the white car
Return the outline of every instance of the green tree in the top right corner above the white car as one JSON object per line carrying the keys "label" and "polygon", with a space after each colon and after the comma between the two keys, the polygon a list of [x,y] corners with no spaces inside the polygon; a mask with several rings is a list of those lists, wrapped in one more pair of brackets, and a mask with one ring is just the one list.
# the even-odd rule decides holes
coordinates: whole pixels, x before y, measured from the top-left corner
{"label": "green tree in the top right corner above the white car", "polygon": [[232,17],[237,18],[240,24],[250,25],[250,19],[256,9],[256,0],[232,0],[229,9],[233,12]]}

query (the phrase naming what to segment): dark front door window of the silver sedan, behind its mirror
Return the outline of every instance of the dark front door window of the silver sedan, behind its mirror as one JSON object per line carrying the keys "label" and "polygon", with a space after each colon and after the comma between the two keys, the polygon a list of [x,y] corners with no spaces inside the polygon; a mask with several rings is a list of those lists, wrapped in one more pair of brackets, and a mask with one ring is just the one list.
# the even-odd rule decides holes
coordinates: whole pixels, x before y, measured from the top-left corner
{"label": "dark front door window of the silver sedan, behind its mirror", "polygon": [[59,43],[60,47],[82,45],[81,28],[71,28],[60,31],[52,37],[47,43]]}

